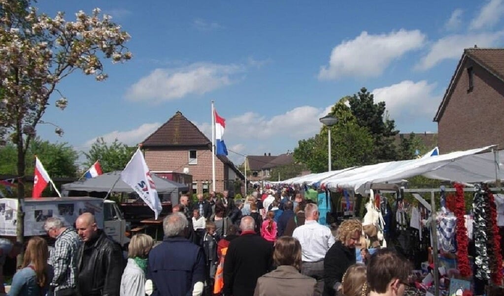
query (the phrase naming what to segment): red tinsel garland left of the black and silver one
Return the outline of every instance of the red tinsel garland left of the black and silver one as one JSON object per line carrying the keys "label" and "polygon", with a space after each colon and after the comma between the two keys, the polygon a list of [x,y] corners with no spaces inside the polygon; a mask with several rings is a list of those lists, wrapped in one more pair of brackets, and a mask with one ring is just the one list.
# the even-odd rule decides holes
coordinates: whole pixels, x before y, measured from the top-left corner
{"label": "red tinsel garland left of the black and silver one", "polygon": [[471,275],[471,267],[469,266],[469,258],[467,256],[467,229],[465,226],[465,201],[464,201],[464,185],[455,184],[455,188],[457,189],[457,197],[456,197],[456,207],[455,207],[455,216],[457,217],[457,263],[458,269],[460,271],[460,275],[463,277],[468,277]]}

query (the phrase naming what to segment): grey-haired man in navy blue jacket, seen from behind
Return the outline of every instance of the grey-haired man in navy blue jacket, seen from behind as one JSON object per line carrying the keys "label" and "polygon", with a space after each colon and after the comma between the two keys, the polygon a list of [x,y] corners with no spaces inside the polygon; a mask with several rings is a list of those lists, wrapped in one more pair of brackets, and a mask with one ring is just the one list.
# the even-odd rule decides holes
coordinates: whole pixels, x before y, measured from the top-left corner
{"label": "grey-haired man in navy blue jacket, seen from behind", "polygon": [[205,254],[184,238],[187,218],[181,212],[166,216],[163,231],[163,242],[149,253],[147,277],[154,285],[152,295],[200,296],[205,282]]}

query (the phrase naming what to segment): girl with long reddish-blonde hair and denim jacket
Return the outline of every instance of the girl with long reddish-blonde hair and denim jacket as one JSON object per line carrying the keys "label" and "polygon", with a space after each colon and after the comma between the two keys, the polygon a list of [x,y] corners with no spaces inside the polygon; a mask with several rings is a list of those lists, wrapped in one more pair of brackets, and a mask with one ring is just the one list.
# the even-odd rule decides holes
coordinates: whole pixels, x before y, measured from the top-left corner
{"label": "girl with long reddish-blonde hair and denim jacket", "polygon": [[23,268],[14,275],[9,295],[45,295],[52,280],[48,258],[47,242],[40,237],[31,238],[26,247]]}

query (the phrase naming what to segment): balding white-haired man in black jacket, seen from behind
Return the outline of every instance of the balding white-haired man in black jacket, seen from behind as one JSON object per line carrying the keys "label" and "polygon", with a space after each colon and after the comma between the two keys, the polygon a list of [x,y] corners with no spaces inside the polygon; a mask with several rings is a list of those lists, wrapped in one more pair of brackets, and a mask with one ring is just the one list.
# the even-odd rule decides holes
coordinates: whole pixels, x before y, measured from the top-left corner
{"label": "balding white-haired man in black jacket, seen from behind", "polygon": [[224,260],[224,295],[253,296],[257,279],[270,270],[272,245],[258,236],[251,216],[241,218],[241,235],[229,243]]}

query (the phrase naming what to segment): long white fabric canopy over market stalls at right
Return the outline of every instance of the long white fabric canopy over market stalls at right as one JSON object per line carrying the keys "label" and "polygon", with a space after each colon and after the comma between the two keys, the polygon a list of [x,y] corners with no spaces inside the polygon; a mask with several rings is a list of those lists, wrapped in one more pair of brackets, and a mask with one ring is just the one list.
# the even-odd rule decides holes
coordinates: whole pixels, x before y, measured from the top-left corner
{"label": "long white fabric canopy over market stalls at right", "polygon": [[427,178],[464,183],[504,180],[500,159],[504,151],[492,151],[495,146],[435,155],[429,152],[414,160],[386,162],[345,170],[310,174],[281,183],[323,184],[325,187],[351,189],[364,193],[372,183],[398,183],[403,179],[422,175]]}

